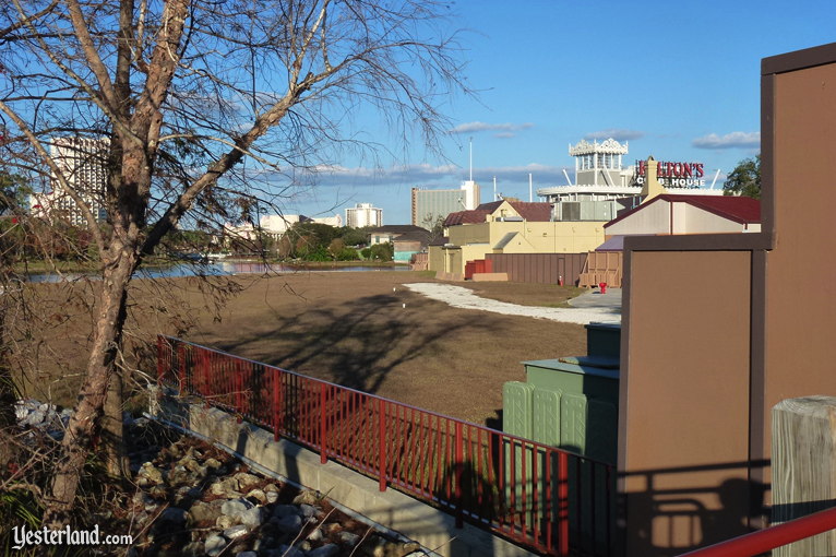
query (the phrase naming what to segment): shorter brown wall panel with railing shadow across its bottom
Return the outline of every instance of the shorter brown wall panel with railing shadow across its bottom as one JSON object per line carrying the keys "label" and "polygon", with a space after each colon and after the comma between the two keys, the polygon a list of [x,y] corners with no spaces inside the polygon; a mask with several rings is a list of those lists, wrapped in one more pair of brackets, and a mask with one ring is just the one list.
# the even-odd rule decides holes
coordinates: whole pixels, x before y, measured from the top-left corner
{"label": "shorter brown wall panel with railing shadow across its bottom", "polygon": [[[727,287],[709,283],[707,270],[716,269]],[[676,555],[745,531],[751,259],[633,252],[629,272],[619,416],[624,542],[626,555]]]}

